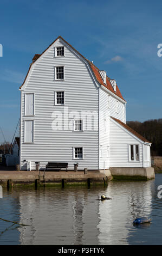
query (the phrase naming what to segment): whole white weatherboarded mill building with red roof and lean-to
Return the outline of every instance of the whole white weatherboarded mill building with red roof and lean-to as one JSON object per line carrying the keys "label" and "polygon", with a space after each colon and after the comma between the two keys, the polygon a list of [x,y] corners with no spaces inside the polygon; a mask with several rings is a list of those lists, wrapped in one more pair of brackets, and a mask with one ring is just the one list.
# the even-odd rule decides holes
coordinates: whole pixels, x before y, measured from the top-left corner
{"label": "whole white weatherboarded mill building with red roof and lean-to", "polygon": [[59,36],[35,54],[21,90],[21,169],[150,167],[151,143],[126,123],[126,101],[106,76]]}

